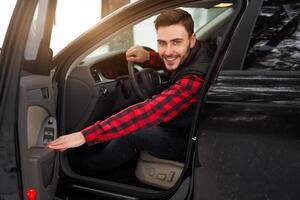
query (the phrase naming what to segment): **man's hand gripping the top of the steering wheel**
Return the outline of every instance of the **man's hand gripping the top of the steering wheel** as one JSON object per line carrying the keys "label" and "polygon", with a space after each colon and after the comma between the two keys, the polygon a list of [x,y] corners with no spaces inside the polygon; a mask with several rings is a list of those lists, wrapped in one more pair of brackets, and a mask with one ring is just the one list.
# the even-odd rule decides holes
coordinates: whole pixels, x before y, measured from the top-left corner
{"label": "man's hand gripping the top of the steering wheel", "polygon": [[130,62],[143,63],[149,60],[149,56],[149,52],[139,45],[130,47],[126,52],[126,59]]}

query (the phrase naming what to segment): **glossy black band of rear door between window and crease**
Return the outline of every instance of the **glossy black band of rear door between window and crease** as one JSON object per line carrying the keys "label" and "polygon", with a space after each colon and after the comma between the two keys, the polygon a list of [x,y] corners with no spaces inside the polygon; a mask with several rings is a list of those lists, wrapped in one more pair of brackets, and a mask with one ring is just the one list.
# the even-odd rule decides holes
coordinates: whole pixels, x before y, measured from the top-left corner
{"label": "glossy black band of rear door between window and crease", "polygon": [[300,78],[297,75],[233,75],[218,76],[210,88],[207,102],[252,104],[297,108]]}

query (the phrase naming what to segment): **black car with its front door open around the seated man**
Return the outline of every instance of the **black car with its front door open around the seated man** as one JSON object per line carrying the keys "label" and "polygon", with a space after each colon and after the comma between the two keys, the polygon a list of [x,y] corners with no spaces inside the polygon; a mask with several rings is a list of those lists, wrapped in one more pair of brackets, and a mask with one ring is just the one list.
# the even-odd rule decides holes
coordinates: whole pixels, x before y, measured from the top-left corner
{"label": "black car with its front door open around the seated man", "polygon": [[[6,32],[0,199],[300,199],[298,0],[133,1],[56,52],[51,44],[62,2],[18,0]],[[72,10],[78,2],[70,2]],[[103,8],[113,1],[99,2]],[[56,38],[80,25],[81,8]],[[91,175],[76,162],[105,144],[61,153],[45,148],[145,99],[141,91],[149,83],[168,80],[163,70],[128,65],[125,52],[135,44],[155,50],[153,20],[170,8],[193,16],[198,40],[214,54],[185,162],[141,152],[118,169]],[[128,73],[132,67],[135,74]]]}

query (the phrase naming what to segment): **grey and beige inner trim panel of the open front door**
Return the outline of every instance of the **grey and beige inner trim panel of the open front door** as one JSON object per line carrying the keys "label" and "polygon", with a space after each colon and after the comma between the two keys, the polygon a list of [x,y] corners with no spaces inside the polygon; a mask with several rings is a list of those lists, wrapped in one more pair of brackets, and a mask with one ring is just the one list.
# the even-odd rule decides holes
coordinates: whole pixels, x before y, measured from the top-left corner
{"label": "grey and beige inner trim panel of the open front door", "polygon": [[45,148],[57,136],[55,104],[50,77],[21,78],[18,132],[23,192],[36,188],[37,199],[52,199],[57,185],[56,152]]}

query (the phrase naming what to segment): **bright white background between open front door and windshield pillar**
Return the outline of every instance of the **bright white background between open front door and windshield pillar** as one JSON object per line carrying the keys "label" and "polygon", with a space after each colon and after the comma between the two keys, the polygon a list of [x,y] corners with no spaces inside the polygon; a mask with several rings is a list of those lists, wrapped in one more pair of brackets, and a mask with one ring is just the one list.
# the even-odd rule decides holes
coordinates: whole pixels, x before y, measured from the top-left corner
{"label": "bright white background between open front door and windshield pillar", "polygon": [[107,14],[135,1],[58,0],[50,43],[53,55],[96,25]]}

